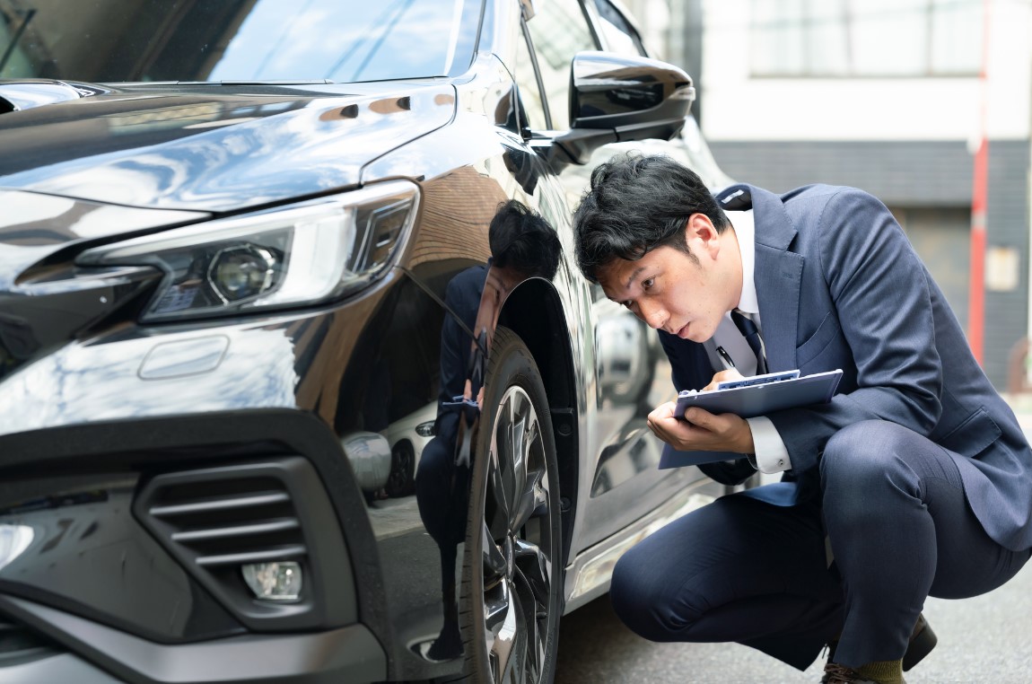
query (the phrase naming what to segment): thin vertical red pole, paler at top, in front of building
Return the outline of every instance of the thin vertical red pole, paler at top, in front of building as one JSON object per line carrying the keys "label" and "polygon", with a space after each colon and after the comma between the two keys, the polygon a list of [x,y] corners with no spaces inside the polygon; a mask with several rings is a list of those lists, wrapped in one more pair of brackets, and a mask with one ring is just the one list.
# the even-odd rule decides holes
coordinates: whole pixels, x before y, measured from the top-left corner
{"label": "thin vertical red pole, paler at top, in front of building", "polygon": [[981,3],[981,68],[978,72],[979,139],[974,155],[973,184],[971,188],[971,280],[968,284],[968,344],[974,358],[981,363],[986,327],[986,207],[989,195],[989,136],[986,110],[988,88],[986,65],[989,63],[990,3]]}

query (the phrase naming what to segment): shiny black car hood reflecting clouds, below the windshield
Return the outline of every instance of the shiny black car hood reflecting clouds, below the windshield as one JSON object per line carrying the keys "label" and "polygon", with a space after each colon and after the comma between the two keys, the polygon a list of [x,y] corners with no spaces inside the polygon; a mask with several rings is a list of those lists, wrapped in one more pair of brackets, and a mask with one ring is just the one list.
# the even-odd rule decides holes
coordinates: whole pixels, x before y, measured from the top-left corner
{"label": "shiny black car hood reflecting clouds, below the windshield", "polygon": [[455,109],[440,83],[95,90],[0,113],[0,189],[235,211],[354,187],[365,164]]}

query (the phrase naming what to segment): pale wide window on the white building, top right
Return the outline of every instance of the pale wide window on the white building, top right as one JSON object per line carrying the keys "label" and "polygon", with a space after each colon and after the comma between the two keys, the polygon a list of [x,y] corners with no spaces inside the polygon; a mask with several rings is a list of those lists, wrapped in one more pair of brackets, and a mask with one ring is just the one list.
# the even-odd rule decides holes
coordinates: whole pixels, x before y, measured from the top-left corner
{"label": "pale wide window on the white building, top right", "polygon": [[982,0],[752,0],[756,76],[974,75]]}

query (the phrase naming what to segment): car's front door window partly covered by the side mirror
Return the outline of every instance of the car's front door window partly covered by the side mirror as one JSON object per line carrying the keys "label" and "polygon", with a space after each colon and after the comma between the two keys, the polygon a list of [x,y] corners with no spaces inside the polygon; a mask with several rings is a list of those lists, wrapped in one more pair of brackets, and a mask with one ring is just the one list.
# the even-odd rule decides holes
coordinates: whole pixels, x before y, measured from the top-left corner
{"label": "car's front door window partly covered by the side mirror", "polygon": [[534,3],[527,22],[545,84],[552,128],[570,128],[570,66],[574,55],[598,50],[587,20],[577,0],[543,0]]}

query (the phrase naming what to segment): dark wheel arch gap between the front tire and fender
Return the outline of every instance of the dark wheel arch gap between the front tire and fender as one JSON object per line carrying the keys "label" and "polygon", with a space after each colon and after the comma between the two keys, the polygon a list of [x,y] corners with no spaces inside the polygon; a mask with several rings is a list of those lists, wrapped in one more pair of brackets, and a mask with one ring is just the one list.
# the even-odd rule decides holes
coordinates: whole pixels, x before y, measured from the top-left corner
{"label": "dark wheel arch gap between the front tire and fender", "polygon": [[498,324],[522,338],[534,355],[548,395],[559,470],[562,562],[566,565],[570,556],[574,512],[577,510],[580,435],[573,349],[559,295],[545,280],[526,281],[506,298]]}

